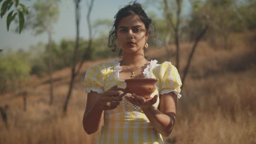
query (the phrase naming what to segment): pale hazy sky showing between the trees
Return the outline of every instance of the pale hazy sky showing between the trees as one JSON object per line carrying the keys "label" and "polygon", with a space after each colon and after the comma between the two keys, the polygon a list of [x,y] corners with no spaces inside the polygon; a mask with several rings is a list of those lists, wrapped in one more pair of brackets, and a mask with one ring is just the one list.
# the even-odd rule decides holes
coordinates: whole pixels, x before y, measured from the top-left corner
{"label": "pale hazy sky showing between the trees", "polygon": [[[20,1],[27,7],[31,6],[35,0]],[[149,0],[137,0],[142,4],[142,7],[148,11],[153,11],[157,16],[162,16],[162,11],[159,10],[160,5],[158,2],[153,4],[147,4]],[[152,1],[152,0],[151,0]],[[83,39],[88,38],[88,26],[86,22],[86,14],[88,10],[88,0],[82,0],[81,2],[81,22],[80,22],[80,37]],[[110,19],[114,21],[114,15],[117,11],[127,5],[130,1],[126,0],[95,0],[94,7],[91,11],[91,22],[93,23],[97,19]],[[1,3],[2,5],[2,3]],[[59,20],[54,24],[53,40],[56,43],[63,38],[74,39],[75,38],[75,14],[74,14],[74,2],[73,0],[62,0],[60,5]],[[0,19],[0,49],[24,49],[28,50],[31,45],[36,45],[39,42],[47,43],[48,37],[46,33],[40,35],[33,35],[32,30],[22,31],[21,34],[15,33],[15,22],[10,25],[9,32],[6,26],[6,17]],[[108,29],[109,31],[109,29]]]}

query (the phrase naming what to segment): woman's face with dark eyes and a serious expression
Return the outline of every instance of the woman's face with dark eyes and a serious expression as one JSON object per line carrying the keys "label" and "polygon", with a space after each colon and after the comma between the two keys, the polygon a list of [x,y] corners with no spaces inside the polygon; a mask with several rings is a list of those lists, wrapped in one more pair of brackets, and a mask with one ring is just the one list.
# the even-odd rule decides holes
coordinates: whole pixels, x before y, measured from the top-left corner
{"label": "woman's face with dark eyes and a serious expression", "polygon": [[148,32],[138,15],[123,17],[117,29],[118,43],[123,53],[143,52]]}

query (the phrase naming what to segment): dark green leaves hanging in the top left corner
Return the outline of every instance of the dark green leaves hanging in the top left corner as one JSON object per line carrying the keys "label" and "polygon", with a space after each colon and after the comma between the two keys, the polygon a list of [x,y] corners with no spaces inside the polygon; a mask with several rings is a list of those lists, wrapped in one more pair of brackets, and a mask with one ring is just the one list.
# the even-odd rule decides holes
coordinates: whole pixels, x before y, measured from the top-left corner
{"label": "dark green leaves hanging in the top left corner", "polygon": [[[0,3],[2,0],[0,0]],[[14,9],[10,11],[11,7]],[[28,14],[27,7],[24,4],[21,4],[19,0],[5,0],[3,1],[1,7],[1,18],[8,12],[7,16],[7,31],[9,31],[10,23],[15,19],[17,14],[19,15],[19,33],[21,33],[23,26],[24,26],[24,14]]]}

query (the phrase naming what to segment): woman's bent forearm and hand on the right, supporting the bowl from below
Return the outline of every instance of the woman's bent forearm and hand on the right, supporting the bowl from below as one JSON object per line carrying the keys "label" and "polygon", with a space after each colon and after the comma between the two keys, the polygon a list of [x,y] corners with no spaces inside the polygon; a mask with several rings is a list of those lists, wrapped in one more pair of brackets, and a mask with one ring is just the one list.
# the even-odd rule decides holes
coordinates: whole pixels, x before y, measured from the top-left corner
{"label": "woman's bent forearm and hand on the right, supporting the bowl from below", "polygon": [[[177,95],[173,92],[160,95],[159,109],[152,104],[154,99],[146,100],[138,95],[132,95],[133,98],[128,98],[131,103],[141,107],[145,115],[148,117],[152,126],[162,135],[168,136],[171,134],[175,123]],[[144,99],[144,100],[143,100]]]}

